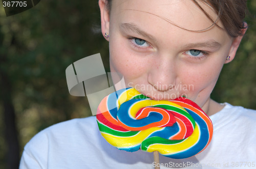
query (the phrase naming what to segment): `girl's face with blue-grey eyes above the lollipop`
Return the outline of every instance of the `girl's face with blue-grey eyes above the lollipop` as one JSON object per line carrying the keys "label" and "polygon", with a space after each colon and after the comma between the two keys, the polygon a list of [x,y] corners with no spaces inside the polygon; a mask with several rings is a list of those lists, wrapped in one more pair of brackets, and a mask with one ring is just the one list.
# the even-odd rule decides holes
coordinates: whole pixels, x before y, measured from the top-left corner
{"label": "girl's face with blue-grey eyes above the lollipop", "polygon": [[155,100],[184,95],[206,110],[222,66],[234,58],[242,37],[233,39],[216,25],[187,31],[212,24],[192,1],[113,0],[110,17],[104,1],[99,1],[101,26],[110,35],[111,72]]}

